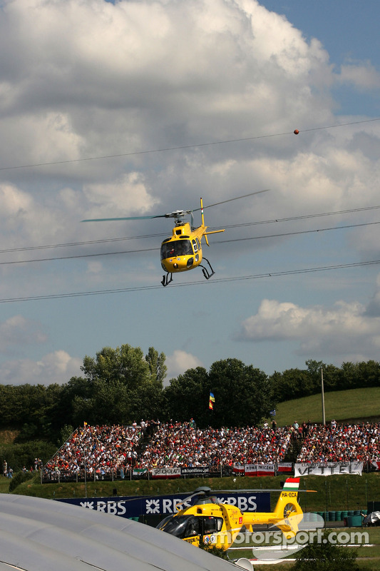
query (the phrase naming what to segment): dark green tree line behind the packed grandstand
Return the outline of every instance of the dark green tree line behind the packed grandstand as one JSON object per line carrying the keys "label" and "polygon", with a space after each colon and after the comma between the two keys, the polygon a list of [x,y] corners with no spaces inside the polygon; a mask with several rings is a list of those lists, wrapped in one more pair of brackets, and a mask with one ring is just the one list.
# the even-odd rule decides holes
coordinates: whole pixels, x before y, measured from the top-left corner
{"label": "dark green tree line behind the packed grandstand", "polygon": [[[210,370],[189,369],[164,386],[164,353],[121,345],[86,356],[83,375],[63,385],[0,385],[0,429],[21,430],[18,440],[63,442],[72,427],[130,424],[141,419],[190,420],[198,426],[257,425],[277,403],[321,390],[380,385],[380,363],[343,363],[342,367],[308,360],[305,369],[267,375],[235,358],[212,363]],[[215,396],[213,410],[209,396]]]}

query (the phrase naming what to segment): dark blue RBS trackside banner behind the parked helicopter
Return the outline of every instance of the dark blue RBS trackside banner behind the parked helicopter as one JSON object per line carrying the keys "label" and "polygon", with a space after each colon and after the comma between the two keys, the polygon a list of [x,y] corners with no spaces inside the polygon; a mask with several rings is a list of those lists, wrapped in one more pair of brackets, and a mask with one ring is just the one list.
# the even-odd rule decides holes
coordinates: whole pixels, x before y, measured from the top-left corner
{"label": "dark blue RBS trackside banner behind the parked helicopter", "polygon": [[[177,512],[177,504],[182,502],[189,493],[176,495],[158,495],[149,497],[118,496],[118,497],[81,497],[56,500],[66,502],[89,510],[120,515],[120,517],[139,517],[140,515],[170,515]],[[236,505],[243,512],[270,512],[269,492],[215,492],[217,502]],[[185,506],[190,507],[191,501]]]}

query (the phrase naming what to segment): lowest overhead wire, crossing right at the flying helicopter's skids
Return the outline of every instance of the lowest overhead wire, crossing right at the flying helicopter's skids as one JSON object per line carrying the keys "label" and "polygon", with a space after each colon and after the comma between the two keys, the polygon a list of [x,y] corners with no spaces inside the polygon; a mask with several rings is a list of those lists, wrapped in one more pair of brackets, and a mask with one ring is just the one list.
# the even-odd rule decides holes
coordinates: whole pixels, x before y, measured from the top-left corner
{"label": "lowest overhead wire, crossing right at the flying helicopter's skids", "polygon": [[[334,266],[319,266],[317,268],[302,268],[298,270],[287,270],[279,272],[270,273],[258,273],[251,276],[235,276],[235,278],[213,278],[211,281],[194,281],[185,283],[173,283],[170,285],[170,289],[173,288],[184,288],[188,285],[208,285],[210,283],[227,283],[232,281],[245,281],[245,280],[255,280],[260,278],[275,278],[281,276],[294,276],[301,273],[314,273],[321,271],[331,271],[331,270],[342,270],[346,268],[360,268],[363,266],[374,266],[379,264],[380,260],[371,260],[366,262],[354,262],[354,263],[342,263],[336,264]],[[33,295],[25,296],[20,298],[3,298],[0,299],[0,303],[15,303],[17,301],[36,301],[36,300],[48,300],[48,299],[63,299],[63,298],[78,298],[85,297],[89,295],[106,295],[109,293],[131,293],[133,291],[145,291],[145,290],[156,290],[163,289],[162,285],[140,285],[134,288],[116,288],[110,290],[96,290],[96,291],[78,291],[75,293],[56,293],[48,295]]]}

